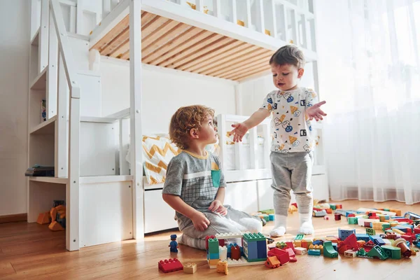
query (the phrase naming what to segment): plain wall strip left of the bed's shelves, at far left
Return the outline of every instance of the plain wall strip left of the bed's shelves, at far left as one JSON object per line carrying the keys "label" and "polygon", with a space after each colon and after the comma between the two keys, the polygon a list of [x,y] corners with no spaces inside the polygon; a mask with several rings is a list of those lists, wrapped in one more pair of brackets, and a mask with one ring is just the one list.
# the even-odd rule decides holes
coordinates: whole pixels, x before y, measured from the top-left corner
{"label": "plain wall strip left of the bed's shelves, at far left", "polygon": [[0,1],[0,216],[27,212],[29,3]]}

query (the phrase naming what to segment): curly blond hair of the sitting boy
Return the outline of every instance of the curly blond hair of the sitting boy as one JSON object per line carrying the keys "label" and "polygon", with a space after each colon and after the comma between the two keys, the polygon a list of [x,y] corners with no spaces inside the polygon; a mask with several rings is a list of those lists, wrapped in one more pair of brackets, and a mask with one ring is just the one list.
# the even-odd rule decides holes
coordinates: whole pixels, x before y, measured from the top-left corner
{"label": "curly blond hair of the sitting boy", "polygon": [[214,110],[202,105],[185,106],[178,109],[171,118],[169,138],[181,149],[188,148],[190,130],[200,130],[207,116],[214,117]]}

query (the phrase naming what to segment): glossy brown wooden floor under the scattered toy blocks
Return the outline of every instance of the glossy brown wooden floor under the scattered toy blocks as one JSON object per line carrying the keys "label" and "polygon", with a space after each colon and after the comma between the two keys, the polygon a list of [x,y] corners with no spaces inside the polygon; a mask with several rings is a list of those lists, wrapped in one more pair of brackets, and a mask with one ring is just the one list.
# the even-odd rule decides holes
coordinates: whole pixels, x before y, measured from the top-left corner
{"label": "glossy brown wooden floor under the scattered toy blocks", "polygon": [[[420,204],[407,206],[398,202],[340,202],[344,209],[358,207],[395,208],[420,213]],[[314,218],[316,237],[337,235],[337,228],[349,228],[345,218],[334,221]],[[297,232],[298,216],[289,215],[288,234],[279,240],[292,239]],[[272,228],[268,223],[263,232]],[[365,228],[357,227],[357,232]],[[297,262],[277,269],[257,265],[231,267],[229,275],[209,269],[204,251],[180,246],[177,255],[169,253],[169,235],[164,232],[146,237],[144,241],[122,241],[69,252],[65,249],[64,232],[50,232],[46,225],[8,223],[0,225],[0,279],[420,279],[420,257],[403,260],[368,260],[363,258],[328,259],[297,255]],[[158,261],[179,258],[181,262],[196,262],[195,274],[182,271],[164,274]]]}

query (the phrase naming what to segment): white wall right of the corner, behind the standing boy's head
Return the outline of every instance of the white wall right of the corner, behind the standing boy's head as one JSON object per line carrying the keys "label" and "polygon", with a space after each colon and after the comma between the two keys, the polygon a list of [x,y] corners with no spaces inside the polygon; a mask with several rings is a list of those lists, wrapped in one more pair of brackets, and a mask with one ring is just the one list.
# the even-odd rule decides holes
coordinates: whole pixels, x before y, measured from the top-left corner
{"label": "white wall right of the corner, behind the standing boy's head", "polygon": [[[304,66],[304,75],[299,85],[315,89],[312,63],[309,62]],[[239,104],[237,105],[238,114],[251,116],[253,112],[260,108],[262,101],[272,90],[276,90],[276,87],[273,84],[271,74],[241,83],[239,85]]]}

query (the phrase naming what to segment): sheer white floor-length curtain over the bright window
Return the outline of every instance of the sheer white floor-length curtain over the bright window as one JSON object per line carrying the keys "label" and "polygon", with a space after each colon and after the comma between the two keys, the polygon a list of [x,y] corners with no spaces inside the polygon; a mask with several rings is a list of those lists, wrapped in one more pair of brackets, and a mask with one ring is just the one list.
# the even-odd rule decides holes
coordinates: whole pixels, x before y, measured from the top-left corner
{"label": "sheer white floor-length curtain over the bright window", "polygon": [[315,3],[332,200],[420,202],[420,1]]}

